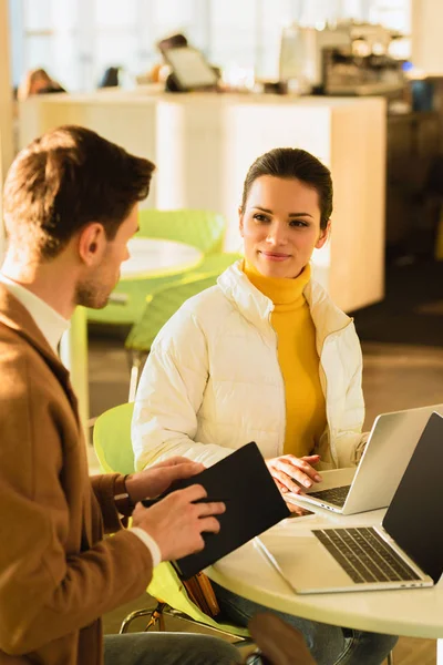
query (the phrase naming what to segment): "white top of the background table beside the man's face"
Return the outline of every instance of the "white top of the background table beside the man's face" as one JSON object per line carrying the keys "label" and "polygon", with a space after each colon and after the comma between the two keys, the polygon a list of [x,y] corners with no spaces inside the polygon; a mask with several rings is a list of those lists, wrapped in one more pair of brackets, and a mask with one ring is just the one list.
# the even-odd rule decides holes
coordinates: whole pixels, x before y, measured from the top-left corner
{"label": "white top of the background table beside the man's face", "polygon": [[132,238],[127,247],[131,258],[122,264],[122,279],[183,273],[194,268],[203,259],[199,249],[175,241]]}

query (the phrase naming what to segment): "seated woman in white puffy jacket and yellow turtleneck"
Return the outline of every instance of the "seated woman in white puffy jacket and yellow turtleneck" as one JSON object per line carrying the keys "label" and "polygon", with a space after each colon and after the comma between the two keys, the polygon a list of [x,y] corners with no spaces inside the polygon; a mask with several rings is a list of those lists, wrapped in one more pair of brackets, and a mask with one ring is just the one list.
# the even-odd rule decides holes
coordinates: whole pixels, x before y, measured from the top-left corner
{"label": "seated woman in white puffy jacket and yellow turtleneck", "polygon": [[[239,207],[245,260],[183,305],[147,359],[134,408],[137,468],[172,454],[209,466],[254,440],[285,494],[319,482],[320,469],[359,461],[360,344],[309,265],[331,213],[330,172],[306,151],[276,149],[253,164]],[[214,586],[241,625],[261,608]],[[395,643],[284,616],[319,664],[378,665]]]}

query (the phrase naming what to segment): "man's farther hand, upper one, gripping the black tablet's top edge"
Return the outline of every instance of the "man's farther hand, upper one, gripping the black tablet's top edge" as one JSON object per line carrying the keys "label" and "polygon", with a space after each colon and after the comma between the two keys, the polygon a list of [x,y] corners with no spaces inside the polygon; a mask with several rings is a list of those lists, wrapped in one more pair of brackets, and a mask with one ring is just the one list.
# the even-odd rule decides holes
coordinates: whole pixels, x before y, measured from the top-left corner
{"label": "man's farther hand, upper one, gripping the black tablet's top edge", "polygon": [[197,462],[192,462],[187,458],[172,457],[164,462],[154,464],[145,471],[132,473],[126,478],[126,491],[130,494],[133,504],[142,499],[154,499],[167,490],[175,481],[182,478],[190,478],[205,467]]}

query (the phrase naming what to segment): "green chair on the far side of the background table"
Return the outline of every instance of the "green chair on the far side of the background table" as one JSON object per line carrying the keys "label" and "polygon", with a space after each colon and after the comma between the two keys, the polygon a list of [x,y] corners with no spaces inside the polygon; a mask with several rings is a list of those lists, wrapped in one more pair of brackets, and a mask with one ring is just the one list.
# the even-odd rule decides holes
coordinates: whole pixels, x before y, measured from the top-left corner
{"label": "green chair on the far side of the background table", "polygon": [[[222,250],[226,223],[223,215],[208,211],[156,211],[138,213],[138,237],[161,238],[186,243],[209,257]],[[103,309],[87,309],[87,320],[110,326],[131,326],[138,320],[146,297],[156,290],[178,282],[181,274],[162,277],[122,279],[115,287],[110,303]]]}

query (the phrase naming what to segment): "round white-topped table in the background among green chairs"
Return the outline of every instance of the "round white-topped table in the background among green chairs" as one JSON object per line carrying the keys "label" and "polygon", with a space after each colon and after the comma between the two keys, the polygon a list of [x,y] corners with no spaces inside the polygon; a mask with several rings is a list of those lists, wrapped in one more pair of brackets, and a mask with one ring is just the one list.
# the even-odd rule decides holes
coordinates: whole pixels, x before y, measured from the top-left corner
{"label": "round white-topped table in the background among green chairs", "polygon": [[[121,266],[121,279],[136,279],[177,275],[196,267],[203,252],[175,241],[132,238],[127,248],[130,258]],[[79,400],[79,413],[87,437],[89,379],[87,379],[87,319],[84,307],[76,307],[71,326],[63,335],[60,357],[70,370],[71,383]]]}

